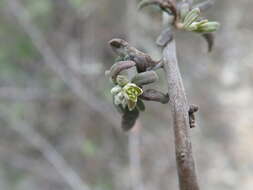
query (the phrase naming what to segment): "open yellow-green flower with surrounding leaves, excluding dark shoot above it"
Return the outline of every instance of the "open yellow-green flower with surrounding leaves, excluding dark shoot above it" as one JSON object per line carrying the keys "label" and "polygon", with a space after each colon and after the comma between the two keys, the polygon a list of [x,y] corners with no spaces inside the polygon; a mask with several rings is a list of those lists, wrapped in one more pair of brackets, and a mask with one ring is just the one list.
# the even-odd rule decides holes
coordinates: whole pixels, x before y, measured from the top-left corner
{"label": "open yellow-green flower with surrounding leaves, excluding dark shoot above it", "polygon": [[145,69],[145,71],[139,73],[137,71],[136,62],[124,60],[116,61],[105,72],[106,76],[114,84],[111,89],[113,104],[121,113],[121,126],[125,131],[130,130],[134,126],[140,111],[145,110],[143,100],[156,101],[162,104],[166,104],[169,101],[168,94],[155,89],[143,90],[144,85],[158,80],[158,75],[154,70]]}

